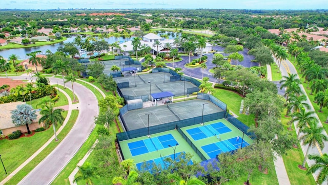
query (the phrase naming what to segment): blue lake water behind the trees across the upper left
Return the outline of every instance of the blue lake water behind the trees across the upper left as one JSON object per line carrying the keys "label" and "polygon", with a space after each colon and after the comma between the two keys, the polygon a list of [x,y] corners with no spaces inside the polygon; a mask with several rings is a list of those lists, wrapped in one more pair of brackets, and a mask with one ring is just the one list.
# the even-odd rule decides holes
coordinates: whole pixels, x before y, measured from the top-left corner
{"label": "blue lake water behind the trees across the upper left", "polygon": [[[159,32],[157,34],[158,35],[162,35],[162,34],[168,34],[168,33],[169,32]],[[86,35],[84,35],[84,36],[86,36]],[[109,44],[112,44],[112,43],[117,42],[117,41],[119,43],[124,43],[124,42],[129,41],[129,40],[131,40],[133,38],[134,38],[134,36],[132,38],[129,38],[129,39],[126,39],[126,38],[124,38],[122,36],[119,37],[119,38],[115,38],[115,37],[112,36],[111,38],[106,39],[106,41]],[[170,39],[173,38],[171,34],[170,34],[169,38]],[[25,60],[25,59],[28,59],[28,57],[26,56],[27,53],[31,53],[33,51],[41,51],[42,54],[45,54],[48,49],[51,52],[54,53],[54,52],[57,51],[57,48],[59,46],[63,45],[64,43],[73,42],[74,39],[75,39],[75,36],[70,36],[64,42],[60,42],[60,43],[56,43],[56,44],[51,44],[51,45],[37,46],[37,47],[29,47],[29,48],[1,49],[0,50],[0,55],[2,57],[4,57],[4,58],[8,59],[11,54],[16,54],[16,55],[18,55],[18,57],[20,58],[20,60]],[[83,39],[85,39],[85,38],[83,38]]]}

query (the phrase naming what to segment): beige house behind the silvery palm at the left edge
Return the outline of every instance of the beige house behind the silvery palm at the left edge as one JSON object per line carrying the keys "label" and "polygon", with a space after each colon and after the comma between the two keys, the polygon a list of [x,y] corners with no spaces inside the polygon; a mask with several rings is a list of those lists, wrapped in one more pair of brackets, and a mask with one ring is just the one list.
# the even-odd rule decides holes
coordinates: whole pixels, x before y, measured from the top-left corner
{"label": "beige house behind the silvery palm at the left edge", "polygon": [[[13,132],[20,131],[22,133],[27,132],[26,125],[16,127],[12,123],[11,111],[17,108],[17,105],[25,104],[24,102],[12,102],[0,104],[0,135],[8,136]],[[30,131],[36,130],[36,128],[42,127],[43,124],[39,125],[38,120],[41,118],[39,112],[36,112],[37,119],[33,120],[32,124],[29,124]]]}

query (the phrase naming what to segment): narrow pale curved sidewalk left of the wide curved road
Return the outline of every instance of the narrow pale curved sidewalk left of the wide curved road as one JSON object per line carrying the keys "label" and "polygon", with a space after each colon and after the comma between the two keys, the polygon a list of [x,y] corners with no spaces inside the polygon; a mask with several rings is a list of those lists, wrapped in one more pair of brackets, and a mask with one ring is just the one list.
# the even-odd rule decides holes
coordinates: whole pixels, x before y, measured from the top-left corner
{"label": "narrow pale curved sidewalk left of the wide curved road", "polygon": [[[67,97],[68,99],[68,105],[65,105],[67,107],[68,113],[67,117],[63,123],[62,126],[59,127],[58,131],[56,132],[57,135],[64,129],[65,125],[67,124],[68,120],[71,117],[72,114],[72,100],[70,96],[65,92],[62,91],[62,93]],[[58,107],[56,107],[58,108]],[[52,128],[50,128],[52,129]],[[33,160],[39,153],[41,153],[51,142],[53,142],[55,136],[52,136],[43,146],[40,147],[39,150],[37,150],[31,157],[29,157],[26,161],[24,161],[22,164],[19,165],[18,168],[16,168],[12,173],[10,173],[3,181],[0,182],[0,185],[5,184],[8,180],[10,180],[14,175],[16,175],[20,170],[22,170],[31,160]]]}

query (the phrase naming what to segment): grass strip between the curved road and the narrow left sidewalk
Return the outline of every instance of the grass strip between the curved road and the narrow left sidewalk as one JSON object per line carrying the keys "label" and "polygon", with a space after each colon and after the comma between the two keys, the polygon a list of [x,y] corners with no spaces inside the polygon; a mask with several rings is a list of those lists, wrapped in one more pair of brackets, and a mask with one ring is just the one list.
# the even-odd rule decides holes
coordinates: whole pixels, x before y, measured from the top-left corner
{"label": "grass strip between the curved road and the narrow left sidewalk", "polygon": [[[67,112],[66,112],[67,113]],[[75,124],[75,121],[77,119],[79,111],[78,110],[72,110],[71,117],[69,121],[67,122],[64,129],[60,132],[58,135],[59,141],[57,142],[51,142],[40,154],[38,154],[31,162],[29,162],[22,170],[20,170],[17,174],[15,174],[6,184],[17,184],[20,180],[22,180],[33,168],[36,167],[38,163],[40,163],[44,158],[46,158],[54,149],[55,147],[63,141],[63,139],[66,137],[66,135],[71,131],[72,127]],[[48,129],[44,132],[50,132],[51,136],[53,135],[53,130]],[[51,137],[50,136],[50,137]],[[44,140],[46,142],[48,139]],[[33,145],[34,146],[34,145]],[[24,160],[20,160],[24,161]]]}

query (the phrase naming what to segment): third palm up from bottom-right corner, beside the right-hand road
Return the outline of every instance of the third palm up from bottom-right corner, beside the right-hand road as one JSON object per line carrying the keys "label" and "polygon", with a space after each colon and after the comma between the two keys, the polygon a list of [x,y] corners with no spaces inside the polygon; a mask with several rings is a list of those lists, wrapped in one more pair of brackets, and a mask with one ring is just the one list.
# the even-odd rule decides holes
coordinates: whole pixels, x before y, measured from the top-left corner
{"label": "third palm up from bottom-right corner, beside the right-hand road", "polygon": [[297,139],[299,138],[299,134],[301,133],[304,126],[308,126],[308,124],[312,121],[314,122],[317,121],[317,118],[314,117],[313,114],[315,114],[314,111],[307,112],[304,107],[302,107],[299,112],[292,114],[292,119],[289,121],[290,124],[289,129],[291,130],[292,124],[294,122],[298,122],[297,127],[299,127],[299,130],[297,133]]}

